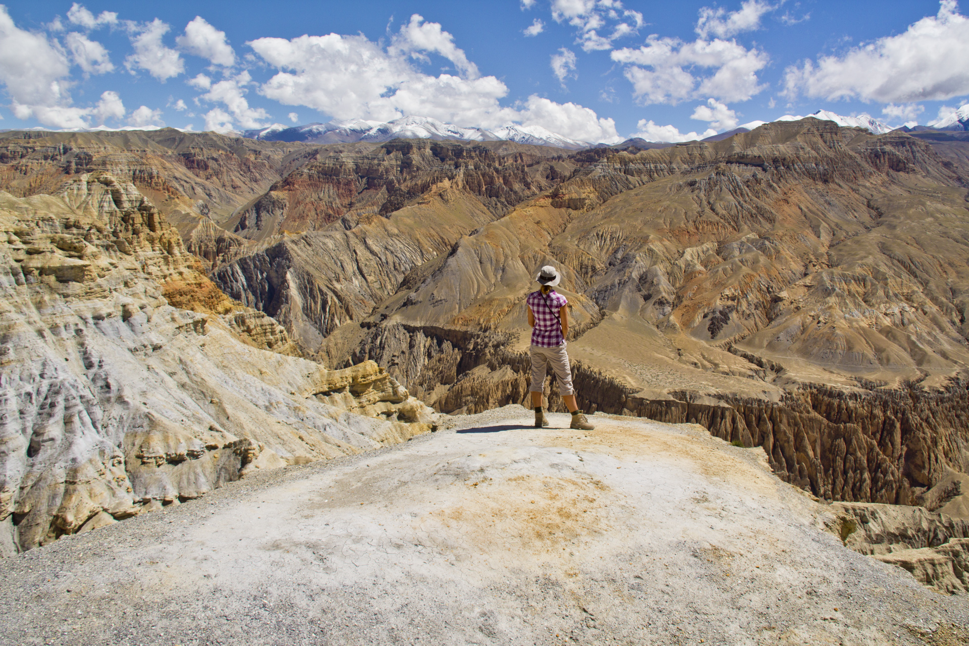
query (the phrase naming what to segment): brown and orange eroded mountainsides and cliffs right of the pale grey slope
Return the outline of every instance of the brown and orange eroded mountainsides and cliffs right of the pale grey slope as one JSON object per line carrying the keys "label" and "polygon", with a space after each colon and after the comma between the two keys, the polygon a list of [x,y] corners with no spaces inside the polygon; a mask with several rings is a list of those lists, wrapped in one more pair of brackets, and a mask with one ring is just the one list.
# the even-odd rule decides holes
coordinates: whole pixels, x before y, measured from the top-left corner
{"label": "brown and orange eroded mountainsides and cliffs right of the pale grey slope", "polygon": [[818,496],[924,504],[969,464],[959,145],[809,118],[649,150],[310,146],[183,235],[287,352],[373,359],[443,412],[527,396],[523,299],[556,264],[584,408],[696,420]]}

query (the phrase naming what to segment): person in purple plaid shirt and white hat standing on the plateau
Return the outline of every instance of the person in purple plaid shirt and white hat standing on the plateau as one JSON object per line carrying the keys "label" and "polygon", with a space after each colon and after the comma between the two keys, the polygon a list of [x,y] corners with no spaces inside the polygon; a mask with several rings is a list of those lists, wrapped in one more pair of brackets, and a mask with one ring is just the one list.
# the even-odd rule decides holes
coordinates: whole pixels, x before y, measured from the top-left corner
{"label": "person in purple plaid shirt and white hat standing on the plateau", "polygon": [[578,410],[576,392],[572,387],[572,369],[569,367],[569,354],[565,352],[565,335],[569,333],[569,301],[555,292],[554,288],[562,280],[555,267],[547,264],[535,279],[542,288],[531,292],[525,299],[528,305],[528,324],[532,327],[532,345],[529,354],[532,358],[532,408],[535,409],[535,428],[548,425],[542,412],[542,394],[545,392],[545,378],[550,365],[558,380],[558,391],[562,401],[572,413],[570,428],[591,431],[595,428]]}

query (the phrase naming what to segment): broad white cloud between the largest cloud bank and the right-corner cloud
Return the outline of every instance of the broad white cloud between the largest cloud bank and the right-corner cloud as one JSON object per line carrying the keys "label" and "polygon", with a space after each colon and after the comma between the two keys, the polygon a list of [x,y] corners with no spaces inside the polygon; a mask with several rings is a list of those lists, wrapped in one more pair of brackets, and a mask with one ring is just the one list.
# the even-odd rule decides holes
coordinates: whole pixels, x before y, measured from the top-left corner
{"label": "broad white cloud between the largest cloud bank and the right-corner cloud", "polygon": [[684,43],[650,36],[639,48],[615,49],[612,60],[625,63],[625,77],[642,104],[672,104],[702,97],[747,101],[764,89],[757,73],[769,62],[766,53],[735,41],[714,39]]}

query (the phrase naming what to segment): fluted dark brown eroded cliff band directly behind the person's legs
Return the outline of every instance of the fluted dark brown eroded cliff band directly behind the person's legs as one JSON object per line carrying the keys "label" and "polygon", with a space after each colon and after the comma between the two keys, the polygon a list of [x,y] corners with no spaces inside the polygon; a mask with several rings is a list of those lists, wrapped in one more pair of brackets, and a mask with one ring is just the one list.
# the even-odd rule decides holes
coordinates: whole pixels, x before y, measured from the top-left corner
{"label": "fluted dark brown eroded cliff band directly behind the person's legs", "polygon": [[[508,334],[373,325],[355,342],[349,362],[389,366],[442,412],[527,403],[529,358]],[[324,360],[339,365],[329,354]],[[928,496],[940,508],[956,494],[928,488],[947,482],[953,470],[969,471],[969,388],[961,379],[938,390],[800,385],[776,401],[690,390],[658,396],[574,361],[573,383],[587,411],[699,423],[728,442],[763,446],[778,477],[828,500],[922,505]],[[547,398],[550,410],[565,410],[551,377]]]}

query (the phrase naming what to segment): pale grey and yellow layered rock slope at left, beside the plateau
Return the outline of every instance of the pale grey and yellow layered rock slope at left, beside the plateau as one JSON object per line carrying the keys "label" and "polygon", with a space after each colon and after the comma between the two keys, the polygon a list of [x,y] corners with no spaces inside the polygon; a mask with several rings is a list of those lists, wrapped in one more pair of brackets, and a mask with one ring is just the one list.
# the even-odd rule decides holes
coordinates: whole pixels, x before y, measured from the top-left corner
{"label": "pale grey and yellow layered rock slope at left, beside the plateau", "polygon": [[293,356],[130,182],[55,192],[0,193],[0,553],[430,430],[375,363]]}

